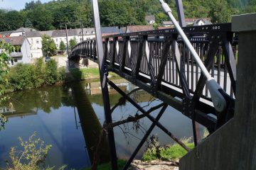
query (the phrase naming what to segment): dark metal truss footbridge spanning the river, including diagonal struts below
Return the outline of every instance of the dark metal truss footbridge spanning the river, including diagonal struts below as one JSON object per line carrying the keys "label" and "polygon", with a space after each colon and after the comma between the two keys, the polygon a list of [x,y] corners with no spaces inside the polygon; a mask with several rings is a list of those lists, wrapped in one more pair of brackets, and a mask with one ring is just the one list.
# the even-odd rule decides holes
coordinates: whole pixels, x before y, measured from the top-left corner
{"label": "dark metal truss footbridge spanning the river, including diagonal struts below", "polygon": [[[201,69],[175,29],[103,37],[104,67],[101,72],[119,74],[191,118],[194,142],[197,145],[195,122],[205,126],[211,134],[233,118],[238,33],[231,31],[231,23],[184,27],[183,31],[210,75],[225,91],[222,94],[227,108],[222,113],[213,107],[206,77],[201,74]],[[81,58],[97,62],[96,40],[85,40],[73,47],[69,60],[79,61]],[[145,113],[112,81],[108,81],[108,84]],[[154,119],[150,115],[147,117],[154,125],[172,135],[158,122],[158,118]]]}

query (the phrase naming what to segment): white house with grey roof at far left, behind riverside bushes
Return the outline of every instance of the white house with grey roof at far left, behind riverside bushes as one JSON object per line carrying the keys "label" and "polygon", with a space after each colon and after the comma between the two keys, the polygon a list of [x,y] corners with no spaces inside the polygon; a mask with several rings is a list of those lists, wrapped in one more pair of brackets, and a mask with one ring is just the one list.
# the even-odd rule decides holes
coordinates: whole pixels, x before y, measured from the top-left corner
{"label": "white house with grey roof at far left, behind riverside bushes", "polygon": [[15,52],[11,52],[10,57],[12,58],[10,65],[15,65],[18,62],[30,63],[31,62],[31,48],[28,39],[24,36],[16,36],[9,38],[0,38],[4,42],[10,43],[16,47]]}

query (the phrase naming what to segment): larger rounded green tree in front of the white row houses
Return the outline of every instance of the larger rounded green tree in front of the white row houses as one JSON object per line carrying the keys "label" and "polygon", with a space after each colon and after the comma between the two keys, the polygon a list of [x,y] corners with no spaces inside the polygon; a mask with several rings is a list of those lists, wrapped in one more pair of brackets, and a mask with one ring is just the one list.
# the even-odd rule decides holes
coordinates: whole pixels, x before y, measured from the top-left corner
{"label": "larger rounded green tree in front of the white row houses", "polygon": [[57,50],[54,40],[49,35],[42,36],[42,50],[45,56],[53,56]]}

